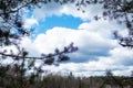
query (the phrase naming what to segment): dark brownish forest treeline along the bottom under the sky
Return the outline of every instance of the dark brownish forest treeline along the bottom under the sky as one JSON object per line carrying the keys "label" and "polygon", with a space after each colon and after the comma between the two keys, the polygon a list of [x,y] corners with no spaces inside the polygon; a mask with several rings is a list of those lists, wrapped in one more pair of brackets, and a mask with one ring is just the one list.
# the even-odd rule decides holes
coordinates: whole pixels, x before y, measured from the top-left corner
{"label": "dark brownish forest treeline along the bottom under the sky", "polygon": [[72,73],[40,73],[21,77],[14,68],[0,67],[0,70],[1,88],[133,88],[133,73],[131,76],[113,76],[111,70],[106,70],[105,76],[90,77],[75,77]]}

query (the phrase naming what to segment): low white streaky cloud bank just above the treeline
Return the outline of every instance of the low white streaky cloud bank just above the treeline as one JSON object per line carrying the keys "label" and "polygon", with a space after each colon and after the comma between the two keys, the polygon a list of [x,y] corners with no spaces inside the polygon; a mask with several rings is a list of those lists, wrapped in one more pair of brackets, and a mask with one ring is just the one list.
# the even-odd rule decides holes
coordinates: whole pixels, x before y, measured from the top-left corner
{"label": "low white streaky cloud bank just above the treeline", "polygon": [[[123,47],[120,47],[119,50],[123,50]],[[127,50],[126,50],[127,51]],[[132,53],[132,51],[129,51]],[[106,69],[111,69],[114,75],[119,76],[130,76],[131,70],[133,69],[132,65],[123,64],[123,61],[125,63],[130,63],[133,61],[133,58],[129,59],[127,56],[132,56],[132,54],[123,54],[123,58],[121,58],[121,55],[119,54],[117,57],[113,58],[113,56],[117,54],[110,54],[108,57],[98,57],[95,61],[85,62],[85,63],[66,63],[61,64],[59,67],[49,67],[49,70],[52,70],[54,73],[57,72],[72,72],[75,76],[95,76],[95,75],[105,75]],[[121,59],[123,59],[121,62]],[[45,68],[48,69],[48,68]]]}

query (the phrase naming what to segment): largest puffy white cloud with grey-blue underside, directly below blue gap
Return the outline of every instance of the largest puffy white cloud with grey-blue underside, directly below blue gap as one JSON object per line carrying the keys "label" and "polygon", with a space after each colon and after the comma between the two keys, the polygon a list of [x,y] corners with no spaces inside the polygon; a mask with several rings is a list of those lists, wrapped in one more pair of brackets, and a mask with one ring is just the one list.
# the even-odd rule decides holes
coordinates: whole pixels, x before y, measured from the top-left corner
{"label": "largest puffy white cloud with grey-blue underside, directly below blue gap", "polygon": [[76,56],[76,58],[72,57],[74,62],[86,62],[96,58],[95,56],[108,55],[108,51],[114,46],[113,41],[102,37],[99,33],[65,28],[48,30],[45,34],[38,35],[33,44],[38,52],[50,53],[54,52],[57,47],[63,48],[63,46],[69,45],[71,42],[74,42],[79,47],[79,52],[72,55]]}

